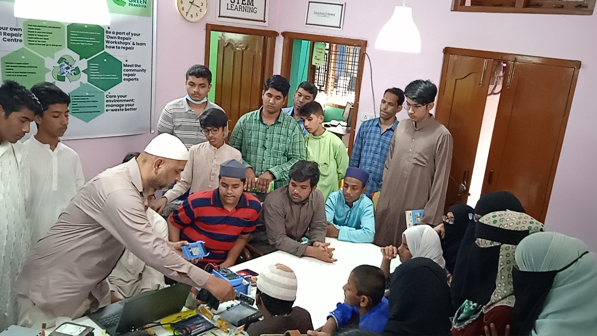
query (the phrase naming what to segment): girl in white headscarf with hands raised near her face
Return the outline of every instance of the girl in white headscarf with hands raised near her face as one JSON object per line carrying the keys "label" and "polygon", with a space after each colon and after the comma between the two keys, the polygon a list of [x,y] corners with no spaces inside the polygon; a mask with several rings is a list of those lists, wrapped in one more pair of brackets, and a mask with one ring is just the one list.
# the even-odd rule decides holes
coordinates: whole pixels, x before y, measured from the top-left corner
{"label": "girl in white headscarf with hands raised near her face", "polygon": [[399,256],[400,262],[411,258],[423,257],[435,261],[441,268],[445,269],[446,262],[442,256],[442,244],[439,235],[429,225],[414,225],[402,233],[402,245],[390,245],[381,248],[383,260],[381,269],[386,273],[386,279],[390,276],[390,260]]}

